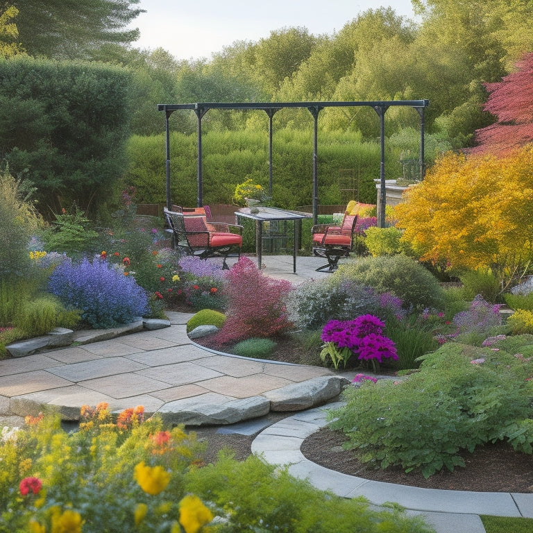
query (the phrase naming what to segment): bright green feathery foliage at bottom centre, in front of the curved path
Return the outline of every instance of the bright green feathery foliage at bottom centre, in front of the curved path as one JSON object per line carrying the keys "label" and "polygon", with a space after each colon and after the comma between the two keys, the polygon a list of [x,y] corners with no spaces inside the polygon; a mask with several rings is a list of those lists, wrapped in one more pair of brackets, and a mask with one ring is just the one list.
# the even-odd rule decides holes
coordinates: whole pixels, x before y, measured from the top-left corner
{"label": "bright green feathery foliage at bottom centre, in front of the curved path", "polygon": [[[403,511],[377,511],[361,498],[339,498],[296,480],[286,468],[266,464],[251,455],[236,462],[228,454],[215,464],[196,468],[185,478],[185,489],[224,509],[221,531],[279,533],[430,533],[420,518]],[[320,509],[320,512],[316,512]]]}

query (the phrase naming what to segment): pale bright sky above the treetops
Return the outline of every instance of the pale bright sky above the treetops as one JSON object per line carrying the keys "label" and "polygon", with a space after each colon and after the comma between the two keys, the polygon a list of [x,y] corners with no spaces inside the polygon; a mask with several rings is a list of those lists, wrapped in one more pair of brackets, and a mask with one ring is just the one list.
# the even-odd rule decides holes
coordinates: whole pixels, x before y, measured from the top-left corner
{"label": "pale bright sky above the treetops", "polygon": [[178,60],[210,59],[237,40],[257,42],[271,31],[305,27],[332,35],[367,9],[390,6],[415,19],[410,0],[141,0],[133,24],[141,37],[133,46],[163,48]]}

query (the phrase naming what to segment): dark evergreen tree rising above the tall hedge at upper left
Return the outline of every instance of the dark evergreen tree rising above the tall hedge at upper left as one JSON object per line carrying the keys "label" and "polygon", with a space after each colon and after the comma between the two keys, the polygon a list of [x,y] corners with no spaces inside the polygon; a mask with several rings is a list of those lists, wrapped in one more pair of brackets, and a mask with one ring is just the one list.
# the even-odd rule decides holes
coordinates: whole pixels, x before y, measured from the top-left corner
{"label": "dark evergreen tree rising above the tall hedge at upper left", "polygon": [[128,29],[144,12],[139,0],[15,0],[20,41],[31,56],[88,58],[103,44],[129,45],[139,30]]}

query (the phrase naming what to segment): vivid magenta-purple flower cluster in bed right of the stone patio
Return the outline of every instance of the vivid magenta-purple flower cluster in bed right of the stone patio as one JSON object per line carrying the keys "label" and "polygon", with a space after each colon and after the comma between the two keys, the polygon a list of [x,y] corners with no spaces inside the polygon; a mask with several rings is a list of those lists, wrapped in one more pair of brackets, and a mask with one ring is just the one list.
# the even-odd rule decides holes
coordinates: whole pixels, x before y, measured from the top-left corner
{"label": "vivid magenta-purple flower cluster in bed right of the stone patio", "polygon": [[322,330],[324,342],[335,343],[337,348],[348,348],[358,359],[398,359],[396,345],[383,335],[385,324],[372,314],[358,316],[355,320],[330,320]]}

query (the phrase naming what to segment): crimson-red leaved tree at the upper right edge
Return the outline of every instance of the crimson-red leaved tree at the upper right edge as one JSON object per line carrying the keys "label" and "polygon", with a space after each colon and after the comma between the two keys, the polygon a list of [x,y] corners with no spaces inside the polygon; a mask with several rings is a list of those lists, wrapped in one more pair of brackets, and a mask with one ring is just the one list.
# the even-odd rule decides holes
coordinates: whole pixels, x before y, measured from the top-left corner
{"label": "crimson-red leaved tree at the upper right edge", "polygon": [[478,143],[471,153],[506,155],[533,141],[533,53],[516,64],[502,81],[486,83],[489,99],[484,110],[498,121],[476,130]]}

